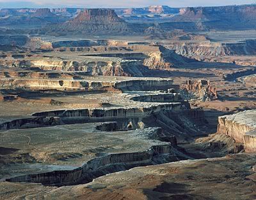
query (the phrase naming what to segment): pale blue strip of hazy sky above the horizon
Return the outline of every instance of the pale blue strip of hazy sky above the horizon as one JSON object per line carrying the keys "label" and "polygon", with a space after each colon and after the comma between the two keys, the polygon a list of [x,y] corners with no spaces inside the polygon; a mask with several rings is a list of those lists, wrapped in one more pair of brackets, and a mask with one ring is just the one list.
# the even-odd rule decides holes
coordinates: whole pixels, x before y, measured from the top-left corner
{"label": "pale blue strip of hazy sky above the horizon", "polygon": [[186,6],[220,6],[234,4],[252,4],[256,0],[0,0],[0,8],[131,8],[149,5],[168,5],[172,7]]}

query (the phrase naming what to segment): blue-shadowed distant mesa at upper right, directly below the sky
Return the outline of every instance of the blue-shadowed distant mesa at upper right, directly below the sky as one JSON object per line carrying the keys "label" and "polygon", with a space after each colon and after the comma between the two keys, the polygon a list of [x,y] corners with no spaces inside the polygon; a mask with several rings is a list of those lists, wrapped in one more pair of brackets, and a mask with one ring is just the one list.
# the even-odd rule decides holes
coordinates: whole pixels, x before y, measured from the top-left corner
{"label": "blue-shadowed distant mesa at upper right, directly below the sky", "polygon": [[210,29],[255,29],[256,6],[217,6],[183,8],[175,22],[202,22]]}

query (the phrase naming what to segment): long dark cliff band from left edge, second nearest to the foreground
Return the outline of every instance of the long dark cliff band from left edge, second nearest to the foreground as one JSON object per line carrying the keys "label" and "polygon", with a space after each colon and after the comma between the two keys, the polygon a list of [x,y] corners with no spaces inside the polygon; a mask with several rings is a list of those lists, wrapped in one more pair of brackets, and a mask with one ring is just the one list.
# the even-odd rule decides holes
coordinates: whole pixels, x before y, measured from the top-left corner
{"label": "long dark cliff band from left edge, second nearest to the foreground", "polygon": [[52,110],[33,113],[31,118],[19,118],[10,122],[0,124],[0,130],[24,129],[35,127],[47,127],[63,124],[84,124],[90,122],[110,122],[115,120],[120,127],[129,129],[139,128],[143,118],[161,112],[185,111],[190,108],[189,104],[165,103],[145,107],[123,107],[123,108],[95,108],[79,110]]}

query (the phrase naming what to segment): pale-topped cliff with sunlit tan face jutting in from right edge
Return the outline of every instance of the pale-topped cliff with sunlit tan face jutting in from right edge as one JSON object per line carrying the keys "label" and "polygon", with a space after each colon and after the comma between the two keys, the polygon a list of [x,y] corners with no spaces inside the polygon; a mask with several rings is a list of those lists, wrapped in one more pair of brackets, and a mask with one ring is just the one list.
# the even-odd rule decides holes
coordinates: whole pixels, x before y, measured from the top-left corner
{"label": "pale-topped cliff with sunlit tan face jutting in from right edge", "polygon": [[256,110],[219,117],[218,133],[243,143],[246,152],[256,152]]}

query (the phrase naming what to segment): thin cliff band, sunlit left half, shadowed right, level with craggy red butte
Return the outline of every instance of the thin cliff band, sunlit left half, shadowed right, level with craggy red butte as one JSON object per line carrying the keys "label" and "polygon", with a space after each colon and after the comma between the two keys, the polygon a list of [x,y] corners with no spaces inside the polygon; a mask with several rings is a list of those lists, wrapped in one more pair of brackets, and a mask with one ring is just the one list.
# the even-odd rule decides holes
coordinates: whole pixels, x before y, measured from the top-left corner
{"label": "thin cliff band, sunlit left half, shadowed right, level with craggy red butte", "polygon": [[[1,77],[1,76],[0,76]],[[23,79],[23,78],[2,78],[0,85],[3,88],[21,88],[30,90],[104,90],[114,89],[134,89],[134,90],[154,90],[165,89],[172,86],[173,80],[152,79],[152,80],[122,80],[122,81],[92,81],[92,80],[49,80],[49,79]]]}

